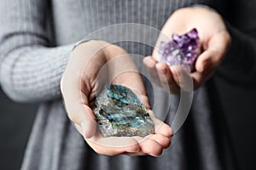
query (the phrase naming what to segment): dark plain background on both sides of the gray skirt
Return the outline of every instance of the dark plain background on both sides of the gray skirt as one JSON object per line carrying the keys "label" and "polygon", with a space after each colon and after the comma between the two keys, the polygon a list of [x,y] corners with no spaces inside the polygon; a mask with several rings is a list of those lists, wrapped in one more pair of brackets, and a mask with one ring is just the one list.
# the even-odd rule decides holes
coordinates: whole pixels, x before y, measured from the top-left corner
{"label": "dark plain background on both sides of the gray skirt", "polygon": [[[256,169],[256,90],[237,88],[221,79],[217,85],[238,164],[242,170]],[[0,169],[20,169],[38,105],[16,104],[1,90],[0,105]]]}

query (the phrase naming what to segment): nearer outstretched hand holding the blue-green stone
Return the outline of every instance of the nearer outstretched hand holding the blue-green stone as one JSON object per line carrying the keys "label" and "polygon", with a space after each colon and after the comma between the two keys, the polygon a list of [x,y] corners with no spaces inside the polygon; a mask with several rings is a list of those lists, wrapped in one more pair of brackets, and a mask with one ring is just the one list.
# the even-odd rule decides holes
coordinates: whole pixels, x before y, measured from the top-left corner
{"label": "nearer outstretched hand holding the blue-green stone", "polygon": [[96,92],[104,82],[131,88],[151,112],[143,80],[125,50],[102,41],[84,42],[74,48],[61,79],[67,114],[79,133],[93,150],[102,155],[160,156],[162,150],[171,144],[173,132],[171,127],[154,118],[153,114],[153,135],[144,139],[102,137],[96,128],[96,117],[90,109],[90,102],[96,98]]}

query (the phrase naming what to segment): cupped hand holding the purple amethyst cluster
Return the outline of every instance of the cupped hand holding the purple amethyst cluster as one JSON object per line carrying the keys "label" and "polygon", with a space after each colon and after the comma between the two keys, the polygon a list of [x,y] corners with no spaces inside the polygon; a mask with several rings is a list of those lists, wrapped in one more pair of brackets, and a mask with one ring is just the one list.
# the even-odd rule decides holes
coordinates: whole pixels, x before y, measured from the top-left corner
{"label": "cupped hand holding the purple amethyst cluster", "polygon": [[[194,89],[210,78],[216,67],[224,59],[224,54],[230,46],[230,34],[227,31],[222,17],[203,7],[178,9],[166,21],[162,29],[162,36],[172,37],[173,33],[184,34],[193,28],[199,32],[202,53],[195,61],[195,71],[187,73],[180,66],[168,67],[165,63],[159,63],[156,59],[157,51],[152,56],[144,59],[148,72],[154,81],[163,88],[168,87],[171,93],[179,92],[183,80],[192,78]],[[163,37],[159,37],[156,47]],[[181,77],[180,77],[181,76]],[[186,87],[184,85],[184,87]]]}

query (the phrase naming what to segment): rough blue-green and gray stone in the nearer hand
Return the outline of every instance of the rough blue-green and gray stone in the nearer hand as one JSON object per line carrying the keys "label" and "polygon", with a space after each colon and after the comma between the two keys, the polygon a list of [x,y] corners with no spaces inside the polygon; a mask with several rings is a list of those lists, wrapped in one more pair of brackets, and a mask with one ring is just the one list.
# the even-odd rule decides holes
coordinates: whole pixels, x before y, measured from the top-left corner
{"label": "rough blue-green and gray stone in the nearer hand", "polygon": [[106,85],[92,107],[103,137],[145,137],[154,133],[154,123],[146,108],[125,86]]}

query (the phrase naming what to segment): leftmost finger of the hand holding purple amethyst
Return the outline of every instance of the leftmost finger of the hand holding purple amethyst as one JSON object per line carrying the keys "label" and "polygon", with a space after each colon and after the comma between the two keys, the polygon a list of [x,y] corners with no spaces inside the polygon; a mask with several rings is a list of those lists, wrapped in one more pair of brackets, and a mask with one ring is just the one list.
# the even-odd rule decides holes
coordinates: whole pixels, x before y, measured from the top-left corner
{"label": "leftmost finger of the hand holding purple amethyst", "polygon": [[143,64],[146,66],[147,71],[150,77],[152,78],[152,80],[154,81],[154,83],[160,86],[160,79],[158,77],[158,73],[155,68],[157,61],[151,56],[148,56],[143,59]]}

